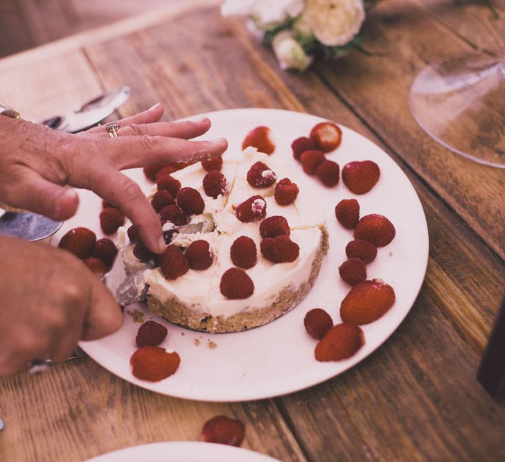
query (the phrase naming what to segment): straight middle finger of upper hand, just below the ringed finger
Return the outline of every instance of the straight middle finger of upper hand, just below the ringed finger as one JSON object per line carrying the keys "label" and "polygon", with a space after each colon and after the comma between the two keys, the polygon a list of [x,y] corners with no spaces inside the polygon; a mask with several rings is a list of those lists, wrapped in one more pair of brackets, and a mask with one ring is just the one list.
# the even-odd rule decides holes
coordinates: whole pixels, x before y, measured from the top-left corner
{"label": "straight middle finger of upper hand, just below the ringed finger", "polygon": [[118,136],[105,141],[112,166],[123,170],[162,162],[197,162],[219,156],[228,148],[224,138],[188,141],[164,136]]}

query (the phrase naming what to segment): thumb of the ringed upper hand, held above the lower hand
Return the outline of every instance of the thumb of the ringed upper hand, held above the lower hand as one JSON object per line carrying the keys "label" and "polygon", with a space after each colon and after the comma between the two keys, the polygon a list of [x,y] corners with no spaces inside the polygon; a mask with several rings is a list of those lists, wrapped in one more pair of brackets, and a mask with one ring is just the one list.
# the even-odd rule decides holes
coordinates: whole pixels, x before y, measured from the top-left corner
{"label": "thumb of the ringed upper hand, held above the lower hand", "polygon": [[26,170],[9,185],[8,203],[60,221],[76,213],[79,196],[76,190],[51,183],[33,170]]}

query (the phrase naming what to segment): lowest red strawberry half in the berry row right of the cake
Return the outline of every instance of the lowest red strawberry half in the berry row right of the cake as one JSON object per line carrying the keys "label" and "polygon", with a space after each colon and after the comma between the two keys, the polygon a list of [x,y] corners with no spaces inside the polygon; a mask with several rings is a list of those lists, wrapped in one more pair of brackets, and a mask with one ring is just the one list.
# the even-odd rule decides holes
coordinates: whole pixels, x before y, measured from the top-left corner
{"label": "lowest red strawberry half in the berry row right of the cake", "polygon": [[354,324],[333,326],[318,342],[314,356],[318,361],[341,361],[353,356],[364,344],[364,334]]}

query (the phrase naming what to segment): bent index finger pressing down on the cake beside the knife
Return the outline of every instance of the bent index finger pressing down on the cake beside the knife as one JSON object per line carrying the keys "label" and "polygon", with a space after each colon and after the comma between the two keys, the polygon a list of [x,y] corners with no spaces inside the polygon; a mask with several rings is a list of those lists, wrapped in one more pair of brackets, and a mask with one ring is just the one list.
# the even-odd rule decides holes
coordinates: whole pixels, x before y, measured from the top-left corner
{"label": "bent index finger pressing down on the cake beside the knife", "polygon": [[135,181],[112,167],[95,163],[76,186],[91,189],[107,202],[121,208],[139,227],[141,239],[148,249],[157,254],[165,250],[159,216]]}

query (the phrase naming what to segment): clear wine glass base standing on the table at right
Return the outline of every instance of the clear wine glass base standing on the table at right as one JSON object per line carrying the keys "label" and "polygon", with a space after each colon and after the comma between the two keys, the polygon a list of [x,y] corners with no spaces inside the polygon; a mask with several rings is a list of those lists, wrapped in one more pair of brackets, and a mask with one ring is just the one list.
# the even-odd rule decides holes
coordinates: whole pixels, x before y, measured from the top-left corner
{"label": "clear wine glass base standing on the table at right", "polygon": [[505,49],[456,53],[428,64],[412,82],[409,106],[445,148],[505,168]]}

